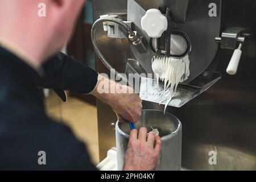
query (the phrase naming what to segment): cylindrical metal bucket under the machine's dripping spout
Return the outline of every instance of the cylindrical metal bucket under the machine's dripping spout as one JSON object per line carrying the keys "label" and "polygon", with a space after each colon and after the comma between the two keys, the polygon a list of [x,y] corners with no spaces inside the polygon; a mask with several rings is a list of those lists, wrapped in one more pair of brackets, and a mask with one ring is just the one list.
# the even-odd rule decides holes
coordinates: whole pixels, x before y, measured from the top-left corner
{"label": "cylindrical metal bucket under the machine's dripping spout", "polygon": [[[142,110],[142,116],[136,124],[137,129],[151,127],[158,129],[162,138],[162,151],[156,170],[181,169],[181,122],[174,115],[159,110]],[[127,144],[129,142],[130,127],[127,123],[115,125],[115,138],[117,142],[117,168],[122,170]]]}

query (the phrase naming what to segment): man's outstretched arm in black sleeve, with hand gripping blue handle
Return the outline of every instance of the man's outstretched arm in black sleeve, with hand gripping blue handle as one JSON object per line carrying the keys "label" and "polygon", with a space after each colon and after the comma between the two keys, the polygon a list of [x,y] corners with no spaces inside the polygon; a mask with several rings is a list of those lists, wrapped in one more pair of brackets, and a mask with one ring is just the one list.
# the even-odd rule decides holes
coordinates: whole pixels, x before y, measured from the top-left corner
{"label": "man's outstretched arm in black sleeve, with hand gripping blue handle", "polygon": [[[91,93],[112,106],[120,122],[138,122],[141,117],[141,98],[132,88],[98,75],[93,69],[64,53],[49,59],[43,68],[46,76],[38,86],[55,90],[71,90],[81,94]],[[108,89],[105,89],[107,93],[99,92],[102,90],[102,85],[108,86]],[[110,90],[115,88],[127,90],[127,93],[110,93]]]}

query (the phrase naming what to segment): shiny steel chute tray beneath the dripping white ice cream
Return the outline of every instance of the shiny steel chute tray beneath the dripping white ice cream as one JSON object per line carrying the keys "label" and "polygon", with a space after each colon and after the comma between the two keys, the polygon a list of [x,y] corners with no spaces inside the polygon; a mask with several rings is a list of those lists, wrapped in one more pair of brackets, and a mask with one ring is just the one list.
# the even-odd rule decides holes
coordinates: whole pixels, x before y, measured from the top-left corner
{"label": "shiny steel chute tray beneath the dripping white ice cream", "polygon": [[[173,107],[184,106],[193,98],[208,90],[220,78],[220,73],[207,71],[196,77],[189,85],[179,84],[176,93],[168,105]],[[164,90],[162,82],[157,84],[155,79],[142,77],[139,97],[143,101],[155,102],[157,104],[162,101],[165,104],[171,97],[170,88],[167,90],[167,92]]]}

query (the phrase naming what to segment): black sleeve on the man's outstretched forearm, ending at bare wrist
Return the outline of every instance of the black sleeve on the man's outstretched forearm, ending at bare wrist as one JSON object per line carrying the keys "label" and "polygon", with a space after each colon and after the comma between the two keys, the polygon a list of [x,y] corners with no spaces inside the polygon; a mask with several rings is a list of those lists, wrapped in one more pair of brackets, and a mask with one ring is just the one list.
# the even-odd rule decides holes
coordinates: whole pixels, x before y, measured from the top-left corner
{"label": "black sleeve on the man's outstretched forearm, ending at bare wrist", "polygon": [[47,60],[43,68],[45,75],[38,85],[42,88],[88,94],[97,84],[96,71],[61,52]]}

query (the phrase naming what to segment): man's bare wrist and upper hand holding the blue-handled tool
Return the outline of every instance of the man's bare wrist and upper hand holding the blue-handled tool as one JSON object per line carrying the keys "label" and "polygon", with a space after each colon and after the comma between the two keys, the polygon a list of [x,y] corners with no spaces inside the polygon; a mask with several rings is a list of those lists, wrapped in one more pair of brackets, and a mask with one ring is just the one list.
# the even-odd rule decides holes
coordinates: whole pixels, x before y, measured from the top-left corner
{"label": "man's bare wrist and upper hand holding the blue-handled tool", "polygon": [[[99,75],[98,80],[98,85],[96,89],[93,90],[92,94],[112,106],[119,122],[138,122],[141,117],[142,101],[138,94],[134,93],[133,88],[120,85],[101,75]],[[126,90],[126,93],[116,93],[117,88]],[[102,93],[102,90],[108,93]],[[112,90],[115,92],[111,93]]]}

